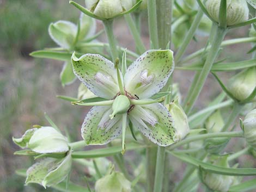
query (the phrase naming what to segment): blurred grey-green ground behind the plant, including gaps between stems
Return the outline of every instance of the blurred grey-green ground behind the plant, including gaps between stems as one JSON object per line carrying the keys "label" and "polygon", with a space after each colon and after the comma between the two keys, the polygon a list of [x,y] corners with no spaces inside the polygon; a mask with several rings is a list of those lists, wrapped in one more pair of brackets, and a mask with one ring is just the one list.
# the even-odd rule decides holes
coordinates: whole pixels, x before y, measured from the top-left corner
{"label": "blurred grey-green ground behind the plant, including gaps between stems", "polygon": [[[76,1],[83,3],[83,1]],[[74,107],[58,100],[56,95],[76,97],[79,82],[62,87],[59,73],[62,62],[46,59],[34,59],[29,53],[37,49],[56,46],[48,36],[48,25],[58,20],[69,20],[76,23],[80,13],[64,0],[0,0],[0,191],[53,191],[43,189],[38,185],[24,186],[25,178],[15,174],[16,169],[28,168],[33,163],[32,158],[17,157],[13,153],[19,150],[12,142],[13,135],[20,137],[32,125],[48,125],[46,112],[63,130],[68,130],[72,139],[81,139],[80,126],[86,113],[86,108]],[[98,30],[102,24],[97,22]],[[119,44],[134,49],[133,39],[122,19],[115,22],[115,34]],[[231,31],[227,39],[244,37],[248,28]],[[149,47],[147,18],[143,17],[142,38]],[[105,36],[101,36],[105,40]],[[198,38],[192,42],[188,53],[201,48],[207,38]],[[222,53],[228,60],[246,60],[251,56],[246,54],[249,44],[230,46]],[[182,74],[182,75],[181,75]],[[222,73],[227,79],[233,73]],[[184,94],[192,79],[192,72],[175,71],[175,82],[180,83]],[[184,78],[186,77],[186,78]],[[198,108],[209,102],[220,91],[214,78],[210,77],[203,94],[200,95]],[[241,147],[244,143],[241,143]],[[241,148],[240,147],[240,148]],[[239,150],[239,148],[237,148]],[[235,151],[232,149],[232,151]],[[243,167],[255,166],[251,157],[246,162],[240,162]],[[180,166],[177,168],[181,168]],[[83,174],[83,170],[81,170]],[[180,175],[180,174],[179,174]],[[179,177],[180,178],[180,177]],[[173,181],[179,179],[173,178]]]}

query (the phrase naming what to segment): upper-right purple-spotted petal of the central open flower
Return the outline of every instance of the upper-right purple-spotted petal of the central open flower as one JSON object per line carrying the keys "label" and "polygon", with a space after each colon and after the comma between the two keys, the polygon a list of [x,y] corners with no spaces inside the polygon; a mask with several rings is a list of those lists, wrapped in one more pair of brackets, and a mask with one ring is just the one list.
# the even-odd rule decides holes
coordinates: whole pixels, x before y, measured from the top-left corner
{"label": "upper-right purple-spotted petal of the central open flower", "polygon": [[125,90],[139,98],[149,98],[163,88],[173,69],[172,51],[147,51],[127,69],[124,76]]}

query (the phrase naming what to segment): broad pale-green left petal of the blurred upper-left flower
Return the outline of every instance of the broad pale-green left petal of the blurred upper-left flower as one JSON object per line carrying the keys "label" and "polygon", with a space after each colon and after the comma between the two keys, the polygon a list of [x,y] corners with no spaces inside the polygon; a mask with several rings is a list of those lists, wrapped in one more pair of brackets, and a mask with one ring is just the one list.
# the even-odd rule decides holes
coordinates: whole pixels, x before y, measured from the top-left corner
{"label": "broad pale-green left petal of the blurred upper-left flower", "polygon": [[75,40],[77,27],[69,21],[57,21],[50,24],[48,33],[56,44],[69,49]]}

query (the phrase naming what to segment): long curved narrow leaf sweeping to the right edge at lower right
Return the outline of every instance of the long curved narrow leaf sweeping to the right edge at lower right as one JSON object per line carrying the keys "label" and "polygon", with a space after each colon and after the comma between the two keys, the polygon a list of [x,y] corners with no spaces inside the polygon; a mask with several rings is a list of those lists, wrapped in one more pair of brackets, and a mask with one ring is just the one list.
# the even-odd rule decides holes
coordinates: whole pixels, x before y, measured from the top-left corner
{"label": "long curved narrow leaf sweeping to the right edge at lower right", "polygon": [[252,176],[256,175],[256,169],[252,168],[224,168],[222,166],[216,166],[209,163],[202,162],[194,157],[188,156],[186,154],[177,154],[175,152],[167,151],[168,153],[172,154],[174,157],[181,159],[182,161],[197,166],[198,168],[201,167],[202,169],[213,172],[215,174],[221,175],[234,175],[234,176]]}

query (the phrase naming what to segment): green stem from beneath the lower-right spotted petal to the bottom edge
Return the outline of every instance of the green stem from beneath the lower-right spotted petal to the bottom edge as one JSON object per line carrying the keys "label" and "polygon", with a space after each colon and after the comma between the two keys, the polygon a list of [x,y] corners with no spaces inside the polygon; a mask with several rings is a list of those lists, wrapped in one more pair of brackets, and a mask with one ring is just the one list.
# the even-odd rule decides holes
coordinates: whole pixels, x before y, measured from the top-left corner
{"label": "green stem from beneath the lower-right spotted petal to the bottom edge", "polygon": [[163,185],[163,171],[166,147],[157,147],[156,173],[154,182],[154,192],[161,192]]}

